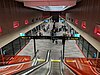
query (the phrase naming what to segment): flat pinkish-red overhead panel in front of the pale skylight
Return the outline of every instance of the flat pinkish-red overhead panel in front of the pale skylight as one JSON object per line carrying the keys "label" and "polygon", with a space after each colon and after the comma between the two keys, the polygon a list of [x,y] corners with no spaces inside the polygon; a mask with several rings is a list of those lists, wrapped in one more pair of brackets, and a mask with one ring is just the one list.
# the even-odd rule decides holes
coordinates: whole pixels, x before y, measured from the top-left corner
{"label": "flat pinkish-red overhead panel in front of the pale skylight", "polygon": [[76,5],[75,1],[58,1],[58,2],[42,2],[42,1],[29,1],[29,2],[24,2],[24,6],[73,6]]}

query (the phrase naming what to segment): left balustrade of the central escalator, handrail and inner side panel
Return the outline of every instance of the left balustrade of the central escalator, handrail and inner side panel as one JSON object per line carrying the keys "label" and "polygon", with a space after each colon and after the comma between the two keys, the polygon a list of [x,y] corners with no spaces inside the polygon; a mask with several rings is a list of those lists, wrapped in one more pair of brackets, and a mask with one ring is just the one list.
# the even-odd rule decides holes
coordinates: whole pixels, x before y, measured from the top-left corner
{"label": "left balustrade of the central escalator, handrail and inner side panel", "polygon": [[40,73],[40,75],[41,75],[41,73],[43,73],[43,75],[49,75],[50,70],[51,70],[50,53],[51,53],[51,50],[48,50],[44,63],[38,64],[36,66],[32,66],[24,71],[14,74],[14,75],[30,75],[30,74],[35,75],[37,73],[38,74]]}

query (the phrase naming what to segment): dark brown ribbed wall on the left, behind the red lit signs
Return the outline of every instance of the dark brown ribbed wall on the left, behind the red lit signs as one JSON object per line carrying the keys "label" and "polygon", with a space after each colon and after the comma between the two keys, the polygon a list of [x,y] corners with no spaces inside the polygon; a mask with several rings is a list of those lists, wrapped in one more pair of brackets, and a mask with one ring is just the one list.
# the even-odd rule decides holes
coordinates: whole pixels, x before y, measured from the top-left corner
{"label": "dark brown ribbed wall on the left, behind the red lit signs", "polygon": [[[32,19],[42,19],[42,11],[24,7],[23,3],[15,0],[0,0],[0,36],[14,32],[32,24]],[[29,23],[25,25],[25,20]],[[13,22],[19,22],[19,27],[13,28]]]}

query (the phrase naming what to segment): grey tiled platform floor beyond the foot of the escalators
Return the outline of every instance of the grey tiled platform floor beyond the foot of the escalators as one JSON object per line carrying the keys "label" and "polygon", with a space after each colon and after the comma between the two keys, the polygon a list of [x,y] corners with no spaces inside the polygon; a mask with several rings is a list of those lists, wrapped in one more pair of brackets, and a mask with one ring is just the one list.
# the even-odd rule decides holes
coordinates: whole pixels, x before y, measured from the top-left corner
{"label": "grey tiled platform floor beyond the foot of the escalators", "polygon": [[[43,32],[43,35],[50,35],[50,30],[52,29],[52,23],[50,23],[50,29],[47,32]],[[60,27],[61,23],[56,23],[56,26]],[[58,32],[57,36],[62,35],[63,31]],[[39,50],[39,57],[45,58],[47,50],[51,50],[51,58],[59,59],[61,56],[62,41],[57,40],[58,44],[52,43],[52,40],[36,40],[36,49]],[[34,44],[33,40],[30,40],[29,44],[18,54],[18,55],[28,55],[34,56]],[[84,57],[81,51],[77,48],[75,41],[66,40],[65,43],[65,57]]]}

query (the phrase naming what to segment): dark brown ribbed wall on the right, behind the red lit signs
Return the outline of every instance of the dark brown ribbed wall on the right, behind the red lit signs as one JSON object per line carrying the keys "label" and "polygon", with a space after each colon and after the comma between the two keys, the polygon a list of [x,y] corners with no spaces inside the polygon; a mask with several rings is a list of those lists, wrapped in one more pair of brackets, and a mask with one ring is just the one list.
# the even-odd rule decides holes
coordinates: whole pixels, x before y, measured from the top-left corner
{"label": "dark brown ribbed wall on the right, behind the red lit signs", "polygon": [[[95,26],[97,24],[100,26],[100,0],[78,2],[76,6],[66,10],[66,18],[73,20],[74,25],[77,19],[76,26],[100,42],[100,35],[94,33]],[[82,21],[86,21],[86,29],[81,27]]]}

